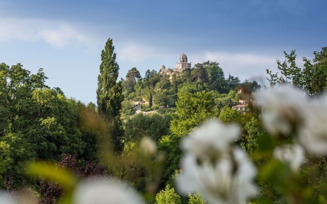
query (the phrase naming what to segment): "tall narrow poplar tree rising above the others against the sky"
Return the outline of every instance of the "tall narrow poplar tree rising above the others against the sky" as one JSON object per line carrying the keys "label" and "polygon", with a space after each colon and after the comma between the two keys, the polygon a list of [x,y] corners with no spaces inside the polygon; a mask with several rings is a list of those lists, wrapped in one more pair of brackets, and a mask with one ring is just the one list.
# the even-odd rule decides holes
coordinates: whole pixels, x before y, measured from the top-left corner
{"label": "tall narrow poplar tree rising above the others against the sky", "polygon": [[108,123],[111,139],[115,151],[122,149],[124,135],[120,111],[122,109],[122,82],[117,82],[119,65],[116,63],[116,54],[112,39],[108,39],[101,53],[100,74],[98,76],[97,104],[98,111]]}

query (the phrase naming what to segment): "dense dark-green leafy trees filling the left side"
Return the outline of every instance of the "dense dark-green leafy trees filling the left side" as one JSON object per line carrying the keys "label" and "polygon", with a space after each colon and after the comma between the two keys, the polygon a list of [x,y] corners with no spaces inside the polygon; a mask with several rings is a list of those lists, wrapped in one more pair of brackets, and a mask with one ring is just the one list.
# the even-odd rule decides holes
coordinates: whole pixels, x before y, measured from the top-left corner
{"label": "dense dark-green leafy trees filling the left side", "polygon": [[63,155],[94,160],[96,135],[78,126],[80,109],[86,107],[67,99],[59,88],[44,85],[42,69],[30,74],[21,64],[0,65],[0,154],[3,163],[0,184],[9,189],[34,185],[21,167],[26,160],[60,160]]}

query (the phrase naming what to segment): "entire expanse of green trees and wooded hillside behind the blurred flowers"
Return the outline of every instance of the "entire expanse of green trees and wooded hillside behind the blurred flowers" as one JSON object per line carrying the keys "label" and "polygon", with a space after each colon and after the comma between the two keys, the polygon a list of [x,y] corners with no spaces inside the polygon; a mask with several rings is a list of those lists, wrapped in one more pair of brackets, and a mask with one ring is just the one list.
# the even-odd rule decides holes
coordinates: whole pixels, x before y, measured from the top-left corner
{"label": "entire expanse of green trees and wooded hillside behind the blurred flowers", "polygon": [[[309,95],[319,95],[327,85],[326,53],[323,48],[315,52],[313,62],[303,59],[303,69],[295,64],[295,51],[285,53],[285,62],[277,61],[281,74],[267,70],[268,81],[271,86],[292,83]],[[253,158],[257,156],[254,152],[260,138],[267,139],[261,111],[251,103],[260,84],[226,76],[219,63],[211,61],[197,63],[171,80],[154,69],[148,69],[142,78],[135,67],[118,80],[120,67],[115,59],[109,39],[101,53],[97,104],[87,105],[67,98],[58,87],[47,86],[42,69],[32,74],[20,63],[0,64],[0,188],[18,193],[29,189],[42,203],[59,202],[64,188],[30,176],[26,169],[27,161],[51,161],[78,178],[118,177],[137,191],[149,193],[150,202],[206,203],[200,194],[178,195],[175,177],[181,171],[180,141],[209,118],[240,124],[243,131],[237,145]],[[238,89],[244,91],[238,93]],[[232,108],[240,99],[249,101],[249,111]],[[136,110],[141,113],[135,114]],[[151,163],[135,155],[138,145],[149,142],[145,138],[156,146]],[[317,171],[325,168],[322,160]],[[319,175],[325,173],[321,170]],[[282,199],[269,182],[261,184],[258,200]]]}

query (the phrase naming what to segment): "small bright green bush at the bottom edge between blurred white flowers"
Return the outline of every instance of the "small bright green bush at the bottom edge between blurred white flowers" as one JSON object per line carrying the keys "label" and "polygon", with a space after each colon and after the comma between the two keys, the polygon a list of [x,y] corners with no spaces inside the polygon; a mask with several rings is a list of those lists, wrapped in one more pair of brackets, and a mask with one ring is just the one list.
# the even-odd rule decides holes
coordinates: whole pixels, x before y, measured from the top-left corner
{"label": "small bright green bush at the bottom edge between blurred white flowers", "polygon": [[180,196],[169,185],[155,196],[155,200],[157,204],[181,204]]}

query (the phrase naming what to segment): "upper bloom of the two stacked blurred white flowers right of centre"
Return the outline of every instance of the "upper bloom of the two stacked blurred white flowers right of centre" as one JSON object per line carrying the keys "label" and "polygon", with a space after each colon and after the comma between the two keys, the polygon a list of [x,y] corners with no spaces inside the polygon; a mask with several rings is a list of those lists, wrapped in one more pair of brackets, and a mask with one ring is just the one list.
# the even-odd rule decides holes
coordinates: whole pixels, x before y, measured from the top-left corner
{"label": "upper bloom of the two stacked blurred white flowers right of centre", "polygon": [[198,157],[226,151],[241,134],[236,124],[225,125],[211,119],[197,127],[189,137],[182,141],[182,148]]}

